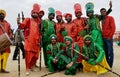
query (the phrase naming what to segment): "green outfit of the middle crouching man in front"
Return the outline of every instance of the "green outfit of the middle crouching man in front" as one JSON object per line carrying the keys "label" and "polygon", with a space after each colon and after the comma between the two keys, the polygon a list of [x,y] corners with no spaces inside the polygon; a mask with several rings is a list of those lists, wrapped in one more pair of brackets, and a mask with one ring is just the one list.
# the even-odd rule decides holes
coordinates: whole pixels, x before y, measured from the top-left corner
{"label": "green outfit of the middle crouching man in front", "polygon": [[65,55],[61,55],[60,58],[63,59],[63,61],[65,62],[65,65],[69,64],[70,62],[73,62],[73,65],[70,68],[67,68],[65,71],[66,75],[75,75],[76,74],[76,69],[78,66],[78,63],[76,63],[77,58],[78,58],[78,53],[76,53],[74,50],[77,50],[78,52],[80,52],[80,48],[77,45],[77,43],[72,44],[71,46],[67,47],[64,50],[64,54]]}

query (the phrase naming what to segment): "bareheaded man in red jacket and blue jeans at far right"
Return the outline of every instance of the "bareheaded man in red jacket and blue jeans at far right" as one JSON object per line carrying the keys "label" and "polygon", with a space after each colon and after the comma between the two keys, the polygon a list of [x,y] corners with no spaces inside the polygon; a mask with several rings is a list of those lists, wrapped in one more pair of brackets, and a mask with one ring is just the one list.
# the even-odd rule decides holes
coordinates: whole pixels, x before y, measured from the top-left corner
{"label": "bareheaded man in red jacket and blue jeans at far right", "polygon": [[105,8],[101,8],[100,13],[103,16],[101,23],[102,23],[102,37],[104,43],[104,51],[107,62],[112,68],[114,61],[113,35],[116,30],[116,25],[114,18],[112,16],[107,15],[107,11]]}

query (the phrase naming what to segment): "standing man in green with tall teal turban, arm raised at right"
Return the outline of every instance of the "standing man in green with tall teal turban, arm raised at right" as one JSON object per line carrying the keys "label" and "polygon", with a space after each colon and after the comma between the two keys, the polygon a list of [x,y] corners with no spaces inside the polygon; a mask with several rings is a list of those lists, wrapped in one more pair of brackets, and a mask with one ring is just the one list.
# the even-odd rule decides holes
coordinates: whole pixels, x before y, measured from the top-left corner
{"label": "standing man in green with tall teal turban, arm raised at right", "polygon": [[[109,14],[112,10],[112,3],[110,2],[110,8],[107,11],[107,14]],[[103,47],[103,40],[102,40],[102,34],[101,34],[101,28],[100,28],[100,20],[102,18],[101,15],[95,15],[94,14],[94,4],[89,2],[86,4],[86,14],[89,17],[87,20],[87,26],[88,26],[88,33],[92,36],[93,41],[97,44],[99,44],[101,47]]]}

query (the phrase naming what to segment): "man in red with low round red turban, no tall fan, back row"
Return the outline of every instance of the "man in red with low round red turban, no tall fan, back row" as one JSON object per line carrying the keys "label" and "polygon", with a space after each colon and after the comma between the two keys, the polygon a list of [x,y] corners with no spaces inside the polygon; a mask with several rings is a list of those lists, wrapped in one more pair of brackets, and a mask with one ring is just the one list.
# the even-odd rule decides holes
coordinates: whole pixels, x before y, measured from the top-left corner
{"label": "man in red with low round red turban, no tall fan, back row", "polygon": [[72,21],[72,14],[66,13],[64,14],[64,17],[67,23],[64,23],[65,32],[63,32],[63,34],[67,36],[71,36],[73,39],[73,42],[76,42],[77,28],[76,28],[76,25]]}

